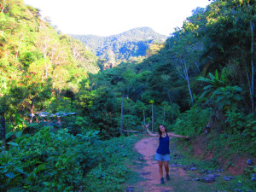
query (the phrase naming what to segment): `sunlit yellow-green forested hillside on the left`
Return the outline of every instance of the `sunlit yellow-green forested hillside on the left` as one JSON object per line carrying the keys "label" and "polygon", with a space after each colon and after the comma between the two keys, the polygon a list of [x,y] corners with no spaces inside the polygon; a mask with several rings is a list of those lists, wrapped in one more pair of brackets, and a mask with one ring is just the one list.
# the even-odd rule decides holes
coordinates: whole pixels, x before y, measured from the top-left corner
{"label": "sunlit yellow-green forested hillside on the left", "polygon": [[1,4],[0,91],[26,79],[44,83],[51,79],[56,89],[76,87],[88,72],[97,73],[96,55],[78,40],[57,34],[49,22],[41,20],[38,9],[22,0]]}

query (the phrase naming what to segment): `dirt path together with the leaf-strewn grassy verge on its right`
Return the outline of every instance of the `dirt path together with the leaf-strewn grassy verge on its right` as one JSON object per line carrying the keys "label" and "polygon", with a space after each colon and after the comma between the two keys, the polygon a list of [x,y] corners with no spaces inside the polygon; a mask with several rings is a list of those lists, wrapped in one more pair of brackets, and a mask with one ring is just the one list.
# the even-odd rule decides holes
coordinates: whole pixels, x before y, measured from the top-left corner
{"label": "dirt path together with the leaf-strewn grassy verge on its right", "polygon": [[[230,177],[230,172],[212,166],[206,160],[194,159],[185,154],[182,148],[177,148],[177,141],[170,140],[171,161],[169,164],[171,180],[160,183],[158,162],[154,154],[159,145],[157,137],[144,137],[138,141],[136,148],[139,157],[131,161],[130,168],[139,173],[133,176],[134,183],[125,185],[125,192],[230,192],[255,191],[251,181],[241,184],[241,177]],[[248,186],[246,186],[248,184]],[[243,186],[244,185],[244,186]],[[243,188],[243,189],[242,189]],[[252,189],[251,189],[252,188]]]}

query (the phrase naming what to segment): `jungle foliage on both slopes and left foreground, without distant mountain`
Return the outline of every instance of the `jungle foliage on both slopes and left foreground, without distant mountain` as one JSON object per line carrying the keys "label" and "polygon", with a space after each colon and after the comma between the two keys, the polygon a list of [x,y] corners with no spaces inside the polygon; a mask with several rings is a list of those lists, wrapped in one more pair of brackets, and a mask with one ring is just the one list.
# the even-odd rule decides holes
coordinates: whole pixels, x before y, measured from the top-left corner
{"label": "jungle foliage on both slopes and left foreground, without distant mountain", "polygon": [[212,1],[143,61],[100,71],[38,9],[2,0],[1,191],[95,191],[96,178],[99,191],[121,190],[130,171],[119,156],[136,140],[124,132],[144,123],[255,157],[255,4]]}

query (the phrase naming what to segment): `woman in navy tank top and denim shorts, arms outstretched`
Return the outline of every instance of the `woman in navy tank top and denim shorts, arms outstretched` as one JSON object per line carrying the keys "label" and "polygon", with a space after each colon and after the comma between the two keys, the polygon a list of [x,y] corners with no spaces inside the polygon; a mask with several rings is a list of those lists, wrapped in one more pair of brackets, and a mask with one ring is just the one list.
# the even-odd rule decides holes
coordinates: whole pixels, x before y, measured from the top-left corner
{"label": "woman in navy tank top and denim shorts, arms outstretched", "polygon": [[189,137],[179,136],[173,133],[167,133],[166,127],[164,125],[160,125],[158,129],[158,134],[154,134],[148,130],[148,125],[146,125],[148,134],[152,137],[159,137],[159,146],[156,150],[154,159],[158,160],[160,182],[165,183],[165,179],[163,177],[163,165],[165,166],[165,169],[166,169],[166,179],[168,181],[170,180],[169,165],[168,165],[170,160],[169,137],[181,137],[181,138],[189,138]]}

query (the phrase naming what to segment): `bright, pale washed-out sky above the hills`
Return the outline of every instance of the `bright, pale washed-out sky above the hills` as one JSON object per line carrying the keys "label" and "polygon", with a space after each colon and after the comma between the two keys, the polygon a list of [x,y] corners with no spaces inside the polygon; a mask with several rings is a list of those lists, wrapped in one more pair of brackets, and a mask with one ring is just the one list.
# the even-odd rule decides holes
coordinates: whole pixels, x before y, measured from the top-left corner
{"label": "bright, pale washed-out sky above the hills", "polygon": [[66,34],[109,36],[149,26],[170,35],[208,0],[24,0]]}

